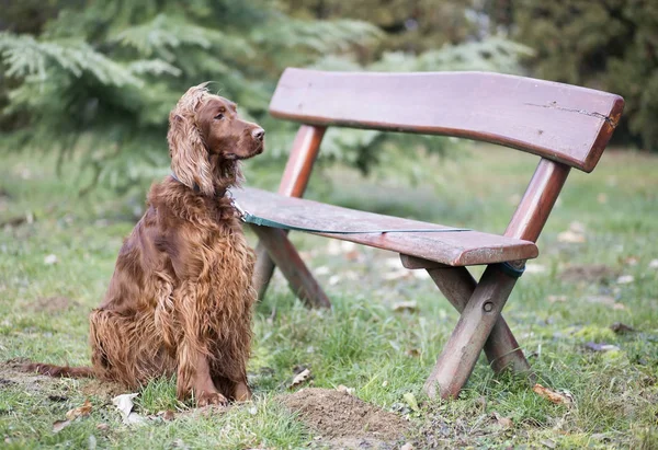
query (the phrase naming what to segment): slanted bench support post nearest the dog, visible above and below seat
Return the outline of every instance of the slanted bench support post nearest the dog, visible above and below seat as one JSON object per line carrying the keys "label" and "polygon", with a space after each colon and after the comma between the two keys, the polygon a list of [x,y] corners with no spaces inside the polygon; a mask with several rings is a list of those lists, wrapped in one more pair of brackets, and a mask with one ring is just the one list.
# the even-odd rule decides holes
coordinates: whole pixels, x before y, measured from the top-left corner
{"label": "slanted bench support post nearest the dog, visible above and below seat", "polygon": [[[325,127],[307,125],[299,127],[279,185],[279,194],[288,197],[304,196],[325,130]],[[256,255],[252,282],[258,292],[258,298],[262,299],[274,274],[274,262],[270,258],[261,242],[256,246]]]}

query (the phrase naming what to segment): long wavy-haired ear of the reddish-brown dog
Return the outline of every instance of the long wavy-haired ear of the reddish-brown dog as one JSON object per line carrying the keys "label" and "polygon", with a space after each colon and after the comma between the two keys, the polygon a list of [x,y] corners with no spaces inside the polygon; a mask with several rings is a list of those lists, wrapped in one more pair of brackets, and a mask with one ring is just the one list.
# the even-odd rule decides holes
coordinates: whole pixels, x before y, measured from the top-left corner
{"label": "long wavy-haired ear of the reddish-brown dog", "polygon": [[203,143],[195,123],[195,112],[203,95],[205,84],[190,88],[175,108],[169,114],[169,155],[171,170],[185,186],[214,195],[215,187],[211,175],[208,152]]}

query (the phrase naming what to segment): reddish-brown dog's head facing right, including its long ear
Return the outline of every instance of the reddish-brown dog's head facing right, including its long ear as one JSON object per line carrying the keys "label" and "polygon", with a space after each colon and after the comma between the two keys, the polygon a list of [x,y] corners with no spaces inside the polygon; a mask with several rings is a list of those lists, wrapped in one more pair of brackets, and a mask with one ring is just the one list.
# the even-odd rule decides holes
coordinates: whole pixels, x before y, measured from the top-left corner
{"label": "reddish-brown dog's head facing right, including its long ear", "polygon": [[211,94],[205,83],[190,88],[169,114],[171,168],[183,184],[212,195],[211,157],[254,157],[263,152],[264,136],[260,126],[239,117],[234,102]]}

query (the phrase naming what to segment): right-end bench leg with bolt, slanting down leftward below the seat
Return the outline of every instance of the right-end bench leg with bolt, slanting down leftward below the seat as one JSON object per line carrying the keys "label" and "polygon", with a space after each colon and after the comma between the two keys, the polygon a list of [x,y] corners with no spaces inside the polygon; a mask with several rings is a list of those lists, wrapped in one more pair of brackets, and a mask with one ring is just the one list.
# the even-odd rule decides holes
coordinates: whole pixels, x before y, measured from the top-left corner
{"label": "right-end bench leg with bolt, slanting down leftward below the seat", "polygon": [[460,394],[515,282],[517,278],[496,265],[487,267],[426,381],[424,390],[430,397],[439,394],[450,399]]}

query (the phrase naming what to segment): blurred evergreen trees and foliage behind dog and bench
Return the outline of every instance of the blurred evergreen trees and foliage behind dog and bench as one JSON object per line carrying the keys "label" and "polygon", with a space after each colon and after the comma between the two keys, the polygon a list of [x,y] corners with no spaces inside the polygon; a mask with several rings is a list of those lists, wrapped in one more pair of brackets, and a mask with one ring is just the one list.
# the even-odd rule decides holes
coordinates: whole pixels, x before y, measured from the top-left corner
{"label": "blurred evergreen trees and foliage behind dog and bench", "polygon": [[[627,101],[617,137],[658,148],[656,1],[0,0],[0,10],[3,148],[60,162],[75,150],[92,185],[122,191],[166,173],[168,113],[206,80],[268,130],[257,163],[280,164],[295,126],[266,107],[287,66],[488,70],[608,90]],[[321,158],[368,173],[392,152],[454,142],[332,129]]]}

